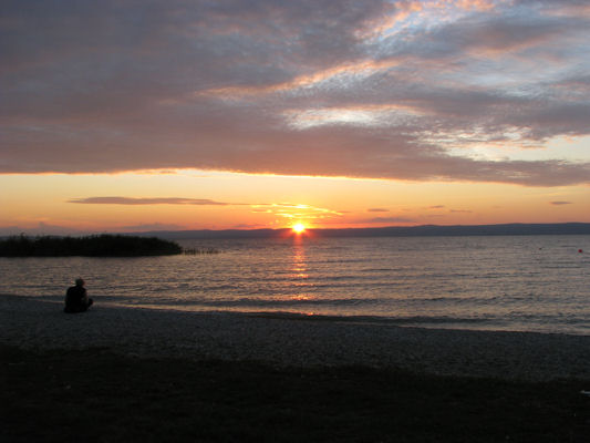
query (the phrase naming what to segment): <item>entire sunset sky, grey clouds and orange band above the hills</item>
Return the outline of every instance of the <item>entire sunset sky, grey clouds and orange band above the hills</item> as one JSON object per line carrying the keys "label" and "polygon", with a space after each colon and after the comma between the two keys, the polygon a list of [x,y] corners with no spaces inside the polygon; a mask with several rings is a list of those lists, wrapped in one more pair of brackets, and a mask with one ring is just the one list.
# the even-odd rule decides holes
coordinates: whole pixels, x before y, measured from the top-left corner
{"label": "entire sunset sky, grey clouds and orange band above the hills", "polygon": [[0,235],[590,222],[590,2],[0,2]]}

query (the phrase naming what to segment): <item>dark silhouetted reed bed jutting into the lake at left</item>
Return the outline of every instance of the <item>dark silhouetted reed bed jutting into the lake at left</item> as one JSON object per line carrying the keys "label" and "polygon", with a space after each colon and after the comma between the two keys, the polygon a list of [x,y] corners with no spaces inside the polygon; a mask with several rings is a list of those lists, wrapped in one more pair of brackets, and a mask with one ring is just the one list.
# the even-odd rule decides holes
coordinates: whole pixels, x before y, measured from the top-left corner
{"label": "dark silhouetted reed bed jutting into the lake at left", "polygon": [[96,235],[87,237],[27,237],[0,240],[1,257],[139,257],[182,254],[183,248],[156,237]]}

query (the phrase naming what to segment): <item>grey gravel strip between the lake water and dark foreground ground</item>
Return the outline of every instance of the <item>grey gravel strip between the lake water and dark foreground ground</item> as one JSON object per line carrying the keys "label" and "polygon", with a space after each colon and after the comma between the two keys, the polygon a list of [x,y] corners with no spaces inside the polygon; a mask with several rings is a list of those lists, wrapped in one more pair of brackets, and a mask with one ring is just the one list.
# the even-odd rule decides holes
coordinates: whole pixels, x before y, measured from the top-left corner
{"label": "grey gravel strip between the lake water and dark foreground ground", "polygon": [[509,380],[590,381],[590,337],[405,328],[101,305],[62,312],[55,297],[0,295],[0,343],[108,348],[137,357],[256,360],[278,367],[362,364]]}

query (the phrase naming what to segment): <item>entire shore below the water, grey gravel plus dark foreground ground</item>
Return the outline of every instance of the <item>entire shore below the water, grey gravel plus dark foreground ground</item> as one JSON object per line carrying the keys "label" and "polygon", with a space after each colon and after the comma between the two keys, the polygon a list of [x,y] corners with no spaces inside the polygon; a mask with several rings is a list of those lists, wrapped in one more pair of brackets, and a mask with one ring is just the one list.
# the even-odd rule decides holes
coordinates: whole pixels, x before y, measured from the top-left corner
{"label": "entire shore below the water, grey gravel plus dark foreground ground", "polygon": [[590,337],[0,296],[6,442],[584,442]]}

